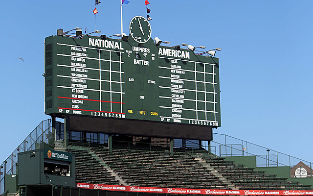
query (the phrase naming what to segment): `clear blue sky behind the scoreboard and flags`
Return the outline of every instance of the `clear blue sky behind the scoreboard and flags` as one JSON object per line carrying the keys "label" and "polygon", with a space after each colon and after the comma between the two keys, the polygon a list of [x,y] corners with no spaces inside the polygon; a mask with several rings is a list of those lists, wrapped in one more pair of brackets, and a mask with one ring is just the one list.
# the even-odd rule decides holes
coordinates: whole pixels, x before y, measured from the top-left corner
{"label": "clear blue sky behind the scoreboard and flags", "polygon": [[[101,0],[96,28],[120,33],[119,0]],[[152,37],[222,48],[222,127],[251,143],[313,161],[313,1],[149,0]],[[123,28],[145,16],[123,5]],[[3,1],[0,6],[0,161],[44,114],[44,40],[56,29],[95,30],[94,0]],[[25,62],[17,57],[22,57]]]}

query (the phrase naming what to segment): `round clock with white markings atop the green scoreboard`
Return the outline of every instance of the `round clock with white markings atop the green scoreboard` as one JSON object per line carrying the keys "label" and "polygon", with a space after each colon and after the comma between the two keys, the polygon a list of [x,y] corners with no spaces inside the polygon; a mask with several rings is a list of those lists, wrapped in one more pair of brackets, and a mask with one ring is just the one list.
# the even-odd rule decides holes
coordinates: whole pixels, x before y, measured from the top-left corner
{"label": "round clock with white markings atop the green scoreboard", "polygon": [[151,37],[149,21],[142,16],[135,16],[129,24],[129,32],[138,43],[146,43]]}

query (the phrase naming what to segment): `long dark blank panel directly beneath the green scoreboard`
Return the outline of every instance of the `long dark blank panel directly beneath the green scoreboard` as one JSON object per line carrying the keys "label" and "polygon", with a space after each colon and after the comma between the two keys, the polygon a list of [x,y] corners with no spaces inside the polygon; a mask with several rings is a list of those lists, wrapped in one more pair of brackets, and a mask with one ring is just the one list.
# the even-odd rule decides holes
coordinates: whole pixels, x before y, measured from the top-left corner
{"label": "long dark blank panel directly beneath the green scoreboard", "polygon": [[128,119],[113,119],[79,115],[66,116],[67,131],[86,131],[111,134],[145,135],[190,140],[212,141],[210,126],[163,123]]}

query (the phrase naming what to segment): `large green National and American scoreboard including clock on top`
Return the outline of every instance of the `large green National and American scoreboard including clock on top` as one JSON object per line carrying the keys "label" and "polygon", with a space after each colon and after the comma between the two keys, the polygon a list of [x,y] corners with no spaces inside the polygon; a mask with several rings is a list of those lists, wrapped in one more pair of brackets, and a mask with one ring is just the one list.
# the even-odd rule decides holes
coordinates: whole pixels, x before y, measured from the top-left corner
{"label": "large green National and American scoreboard including clock on top", "polygon": [[218,58],[157,46],[149,22],[128,40],[45,38],[45,114],[221,126]]}

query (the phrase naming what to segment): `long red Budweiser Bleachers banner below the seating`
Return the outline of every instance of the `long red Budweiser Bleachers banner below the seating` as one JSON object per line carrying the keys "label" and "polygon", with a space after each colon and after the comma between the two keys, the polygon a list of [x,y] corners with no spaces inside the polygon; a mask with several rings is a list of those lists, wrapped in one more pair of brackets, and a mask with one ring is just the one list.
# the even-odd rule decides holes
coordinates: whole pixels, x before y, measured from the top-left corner
{"label": "long red Budweiser Bleachers banner below the seating", "polygon": [[78,188],[125,191],[140,193],[196,194],[196,195],[231,195],[231,196],[313,196],[313,191],[264,191],[264,190],[224,190],[224,189],[180,189],[138,186],[120,186],[108,184],[77,183]]}

